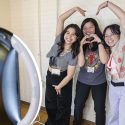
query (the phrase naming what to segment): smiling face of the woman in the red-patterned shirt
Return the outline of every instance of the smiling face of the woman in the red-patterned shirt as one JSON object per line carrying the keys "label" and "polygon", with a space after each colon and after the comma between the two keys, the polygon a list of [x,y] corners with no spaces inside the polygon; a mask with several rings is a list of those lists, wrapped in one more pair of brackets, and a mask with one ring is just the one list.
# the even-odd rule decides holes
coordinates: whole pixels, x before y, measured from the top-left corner
{"label": "smiling face of the woman in the red-patterned shirt", "polygon": [[115,44],[119,41],[119,37],[120,35],[113,33],[110,28],[106,29],[104,39],[108,46],[115,46]]}

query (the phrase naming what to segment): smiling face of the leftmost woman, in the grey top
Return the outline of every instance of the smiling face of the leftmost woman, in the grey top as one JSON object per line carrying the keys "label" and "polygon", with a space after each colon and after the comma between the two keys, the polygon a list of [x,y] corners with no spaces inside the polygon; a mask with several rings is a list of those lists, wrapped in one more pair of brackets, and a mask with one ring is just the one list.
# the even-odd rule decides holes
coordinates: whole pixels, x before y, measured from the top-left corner
{"label": "smiling face of the leftmost woman, in the grey top", "polygon": [[76,31],[74,28],[68,28],[64,34],[65,44],[73,44],[77,40]]}

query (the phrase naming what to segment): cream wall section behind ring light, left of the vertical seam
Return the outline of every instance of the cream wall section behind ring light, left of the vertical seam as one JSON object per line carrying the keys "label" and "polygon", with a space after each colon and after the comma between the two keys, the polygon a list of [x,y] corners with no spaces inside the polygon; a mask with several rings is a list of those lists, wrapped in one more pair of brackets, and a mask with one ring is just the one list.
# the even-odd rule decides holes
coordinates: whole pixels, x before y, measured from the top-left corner
{"label": "cream wall section behind ring light, left of the vertical seam", "polygon": [[[11,31],[30,48],[40,68],[38,0],[10,0],[10,8]],[[30,81],[22,61],[20,71],[21,99],[30,102]]]}

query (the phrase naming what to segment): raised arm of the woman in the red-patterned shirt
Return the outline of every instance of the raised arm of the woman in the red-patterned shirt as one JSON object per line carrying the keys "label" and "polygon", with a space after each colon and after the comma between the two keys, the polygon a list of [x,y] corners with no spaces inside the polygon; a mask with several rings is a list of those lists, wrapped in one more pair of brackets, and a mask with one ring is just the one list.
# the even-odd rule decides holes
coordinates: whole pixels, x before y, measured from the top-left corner
{"label": "raised arm of the woman in the red-patterned shirt", "polygon": [[125,29],[125,11],[114,3],[110,1],[103,2],[99,5],[96,14],[99,14],[100,10],[106,7],[108,7],[120,19],[121,26]]}

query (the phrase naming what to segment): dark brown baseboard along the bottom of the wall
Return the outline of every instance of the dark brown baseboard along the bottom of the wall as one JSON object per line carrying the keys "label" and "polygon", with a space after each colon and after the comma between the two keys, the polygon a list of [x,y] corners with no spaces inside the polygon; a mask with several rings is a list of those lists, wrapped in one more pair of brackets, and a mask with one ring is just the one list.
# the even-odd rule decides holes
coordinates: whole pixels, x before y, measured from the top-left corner
{"label": "dark brown baseboard along the bottom of the wall", "polygon": [[[29,102],[25,102],[25,101],[21,101],[21,103],[24,104],[24,105],[27,105],[27,106],[30,105]],[[43,107],[43,106],[41,106],[40,110],[46,112],[46,108]],[[71,121],[73,121],[73,119],[74,119],[74,117],[71,115]],[[94,122],[89,121],[89,120],[85,120],[85,119],[82,119],[82,122],[86,122],[86,124],[88,124],[88,125],[95,125]]]}

